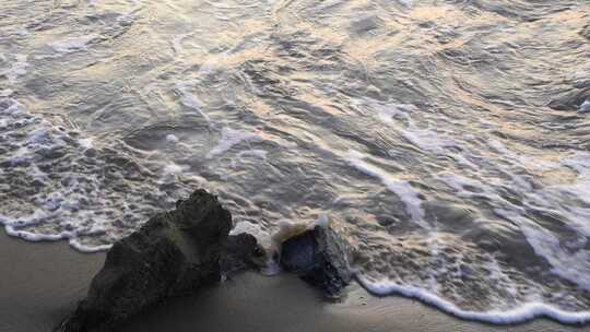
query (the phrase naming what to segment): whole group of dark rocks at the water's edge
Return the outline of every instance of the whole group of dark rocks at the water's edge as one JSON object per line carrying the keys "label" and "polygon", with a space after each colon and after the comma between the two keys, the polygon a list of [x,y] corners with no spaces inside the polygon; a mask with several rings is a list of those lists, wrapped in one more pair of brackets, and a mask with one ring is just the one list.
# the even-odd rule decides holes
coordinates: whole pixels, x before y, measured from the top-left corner
{"label": "whole group of dark rocks at the water's edge", "polygon": [[[231,228],[232,215],[217,198],[194,191],[113,246],[86,298],[56,331],[113,331],[167,298],[268,261],[253,236],[229,236]],[[347,245],[328,226],[286,239],[281,265],[330,297],[351,281]]]}

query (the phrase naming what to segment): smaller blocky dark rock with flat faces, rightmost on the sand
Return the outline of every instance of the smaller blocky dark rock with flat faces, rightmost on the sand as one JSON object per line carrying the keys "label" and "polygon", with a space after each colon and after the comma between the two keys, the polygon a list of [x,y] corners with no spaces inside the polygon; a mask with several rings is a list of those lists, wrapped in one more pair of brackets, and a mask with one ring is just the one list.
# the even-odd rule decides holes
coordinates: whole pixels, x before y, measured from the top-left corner
{"label": "smaller blocky dark rock with flat faces, rightmost on the sand", "polygon": [[339,297],[351,282],[350,246],[327,226],[316,226],[285,240],[281,266],[319,287],[328,297]]}

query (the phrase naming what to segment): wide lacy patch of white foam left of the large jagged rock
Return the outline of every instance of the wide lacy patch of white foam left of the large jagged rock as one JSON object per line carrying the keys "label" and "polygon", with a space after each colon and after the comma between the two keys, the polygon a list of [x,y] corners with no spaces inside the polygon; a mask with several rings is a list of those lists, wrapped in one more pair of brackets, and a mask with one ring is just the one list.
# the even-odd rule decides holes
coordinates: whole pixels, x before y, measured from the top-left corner
{"label": "wide lacy patch of white foam left of the large jagged rock", "polygon": [[[135,190],[130,188],[126,192],[120,192],[120,189],[115,187],[123,181],[125,176],[133,177],[133,170],[111,167],[114,176],[109,181],[105,181],[102,171],[109,166],[104,162],[106,158],[96,161],[88,156],[90,163],[78,163],[75,161],[78,157],[47,155],[52,151],[62,150],[66,155],[82,156],[84,151],[93,145],[93,139],[70,135],[60,127],[30,112],[15,99],[0,99],[0,140],[10,138],[11,144],[0,158],[5,165],[0,168],[5,185],[11,186],[10,177],[22,177],[19,186],[28,185],[36,188],[25,201],[7,194],[7,204],[0,211],[4,214],[0,215],[0,224],[4,225],[11,236],[31,241],[69,239],[75,249],[101,251],[108,249],[108,241],[125,234],[117,233],[119,228],[126,227],[119,225],[119,221],[125,220],[129,224],[140,225],[148,220],[148,215],[160,205],[160,202],[173,206],[173,201],[177,199],[169,198],[158,189],[157,186],[162,181],[155,176],[142,179],[148,187]],[[123,158],[133,157],[125,150],[101,153],[116,154],[116,157]],[[47,158],[50,158],[60,171],[52,171],[49,176],[46,170],[42,170],[39,165]],[[168,173],[178,171],[181,167],[173,166]],[[128,173],[125,173],[126,170]],[[26,174],[21,175],[23,171]],[[146,193],[145,188],[153,191]],[[153,201],[145,203],[149,197]],[[108,236],[105,237],[106,230]]]}

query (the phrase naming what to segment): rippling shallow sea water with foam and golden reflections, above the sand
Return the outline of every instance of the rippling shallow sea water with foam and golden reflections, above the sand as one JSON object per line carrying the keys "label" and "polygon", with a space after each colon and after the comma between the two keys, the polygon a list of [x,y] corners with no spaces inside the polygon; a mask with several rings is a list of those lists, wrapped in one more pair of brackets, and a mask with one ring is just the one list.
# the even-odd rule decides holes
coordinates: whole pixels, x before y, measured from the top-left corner
{"label": "rippling shallow sea water with foam and golden reflections, above the sand", "polygon": [[0,223],[105,250],[196,187],[374,293],[590,320],[587,1],[15,1]]}

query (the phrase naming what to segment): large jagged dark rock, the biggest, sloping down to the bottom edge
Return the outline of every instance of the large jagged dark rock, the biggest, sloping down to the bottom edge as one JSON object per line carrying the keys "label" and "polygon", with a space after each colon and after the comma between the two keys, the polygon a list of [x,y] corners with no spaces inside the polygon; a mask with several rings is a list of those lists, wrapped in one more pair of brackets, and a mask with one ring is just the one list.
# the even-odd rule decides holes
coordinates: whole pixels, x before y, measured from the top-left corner
{"label": "large jagged dark rock, the biggest, sloping down to the bottom edge", "polygon": [[[232,216],[204,190],[160,213],[116,242],[92,281],[86,299],[57,330],[111,331],[166,298],[220,281],[220,256]],[[240,246],[251,239],[236,239]],[[237,245],[236,245],[237,246]]]}

